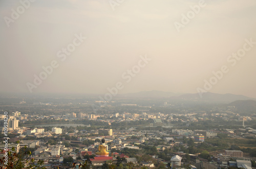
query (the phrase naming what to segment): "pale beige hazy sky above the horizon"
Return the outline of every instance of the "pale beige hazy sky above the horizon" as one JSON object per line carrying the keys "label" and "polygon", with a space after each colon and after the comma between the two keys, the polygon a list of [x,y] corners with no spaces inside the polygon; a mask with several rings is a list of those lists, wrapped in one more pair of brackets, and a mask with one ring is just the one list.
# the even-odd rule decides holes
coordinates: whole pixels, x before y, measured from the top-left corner
{"label": "pale beige hazy sky above the horizon", "polygon": [[[36,0],[27,9],[20,2],[28,0],[0,0],[1,92],[30,92],[53,61],[58,67],[32,92],[106,93],[120,82],[118,93],[200,87],[256,98],[255,0]],[[181,26],[183,14],[190,19]],[[238,51],[235,62],[229,56]],[[222,66],[223,77],[212,78]],[[210,78],[216,84],[205,88]]]}

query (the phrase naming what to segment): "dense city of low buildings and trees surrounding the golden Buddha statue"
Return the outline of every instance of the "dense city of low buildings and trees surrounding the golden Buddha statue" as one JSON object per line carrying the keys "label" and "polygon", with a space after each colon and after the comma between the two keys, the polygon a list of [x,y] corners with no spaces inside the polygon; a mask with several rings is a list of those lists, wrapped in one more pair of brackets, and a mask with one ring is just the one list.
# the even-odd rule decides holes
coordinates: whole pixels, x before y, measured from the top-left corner
{"label": "dense city of low buildings and trees surrounding the golden Buddha statue", "polygon": [[[23,155],[22,160],[26,157],[27,166],[33,159],[39,168],[255,167],[256,113],[249,107],[242,110],[237,101],[131,101],[125,96],[111,102],[94,97],[2,99],[12,104],[1,102],[8,111],[2,110],[0,116],[0,149],[6,145],[8,113],[8,150]],[[47,99],[51,102],[43,102]],[[254,100],[243,102],[256,105]],[[97,156],[102,139],[108,157]]]}

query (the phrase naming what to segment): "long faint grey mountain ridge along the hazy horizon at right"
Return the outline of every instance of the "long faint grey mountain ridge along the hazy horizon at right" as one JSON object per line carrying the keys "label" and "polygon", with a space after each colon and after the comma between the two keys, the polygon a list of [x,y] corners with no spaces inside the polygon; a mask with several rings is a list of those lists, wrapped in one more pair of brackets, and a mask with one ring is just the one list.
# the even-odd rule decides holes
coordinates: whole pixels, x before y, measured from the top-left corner
{"label": "long faint grey mountain ridge along the hazy horizon at right", "polygon": [[255,98],[249,98],[244,95],[237,94],[218,94],[218,93],[173,93],[173,92],[164,92],[158,90],[152,91],[140,91],[136,93],[127,93],[120,94],[121,98],[169,98],[172,100],[180,100],[180,101],[193,101],[193,102],[212,102],[212,103],[224,103],[228,104],[234,101],[241,100],[254,100]]}

